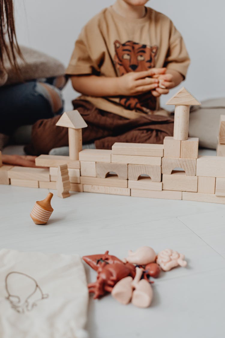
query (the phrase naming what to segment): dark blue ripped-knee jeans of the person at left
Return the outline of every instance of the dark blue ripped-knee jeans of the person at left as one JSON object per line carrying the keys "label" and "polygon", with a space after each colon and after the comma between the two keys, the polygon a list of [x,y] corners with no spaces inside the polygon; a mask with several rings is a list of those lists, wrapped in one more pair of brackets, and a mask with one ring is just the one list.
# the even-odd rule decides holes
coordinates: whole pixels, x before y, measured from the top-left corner
{"label": "dark blue ripped-knee jeans of the person at left", "polygon": [[[51,83],[51,82],[50,82]],[[61,96],[60,91],[53,87]],[[0,133],[11,135],[22,125],[34,124],[61,114],[53,113],[47,90],[37,81],[0,87]]]}

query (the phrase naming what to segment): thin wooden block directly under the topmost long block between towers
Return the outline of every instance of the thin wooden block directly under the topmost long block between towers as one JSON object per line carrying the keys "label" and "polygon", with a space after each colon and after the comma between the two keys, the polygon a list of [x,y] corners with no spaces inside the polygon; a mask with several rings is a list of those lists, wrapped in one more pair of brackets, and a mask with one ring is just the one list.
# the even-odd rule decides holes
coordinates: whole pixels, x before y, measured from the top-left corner
{"label": "thin wooden block directly under the topmost long block between towers", "polygon": [[161,166],[161,157],[151,156],[132,156],[132,155],[114,155],[111,156],[112,163],[126,163],[126,164],[146,164]]}

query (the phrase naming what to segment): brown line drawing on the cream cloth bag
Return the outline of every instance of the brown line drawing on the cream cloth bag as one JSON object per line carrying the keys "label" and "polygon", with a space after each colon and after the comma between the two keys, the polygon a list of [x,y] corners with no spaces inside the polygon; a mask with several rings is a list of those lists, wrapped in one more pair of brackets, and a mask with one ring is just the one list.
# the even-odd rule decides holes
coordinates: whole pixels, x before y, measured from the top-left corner
{"label": "brown line drawing on the cream cloth bag", "polygon": [[12,271],[5,277],[6,299],[11,307],[19,313],[31,311],[37,306],[37,301],[46,299],[36,280],[23,272]]}

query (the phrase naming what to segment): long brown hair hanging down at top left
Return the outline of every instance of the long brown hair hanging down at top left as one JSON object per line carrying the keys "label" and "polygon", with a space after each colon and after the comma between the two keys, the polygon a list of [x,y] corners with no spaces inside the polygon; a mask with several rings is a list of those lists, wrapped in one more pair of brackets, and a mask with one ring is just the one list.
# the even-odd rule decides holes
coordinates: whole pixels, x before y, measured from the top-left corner
{"label": "long brown hair hanging down at top left", "polygon": [[16,37],[12,0],[0,0],[0,64],[4,68],[3,54],[11,67],[20,73],[17,56],[22,59],[23,56]]}

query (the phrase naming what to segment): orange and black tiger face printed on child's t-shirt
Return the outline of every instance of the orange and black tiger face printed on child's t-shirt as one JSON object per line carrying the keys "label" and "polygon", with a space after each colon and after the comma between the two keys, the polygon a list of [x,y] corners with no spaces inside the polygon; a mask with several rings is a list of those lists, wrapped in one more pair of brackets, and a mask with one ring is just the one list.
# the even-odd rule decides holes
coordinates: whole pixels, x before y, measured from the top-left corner
{"label": "orange and black tiger face printed on child's t-shirt", "polygon": [[154,67],[158,47],[147,47],[133,41],[126,41],[121,44],[118,40],[114,41],[115,58],[114,63],[121,76],[128,72],[141,72]]}

